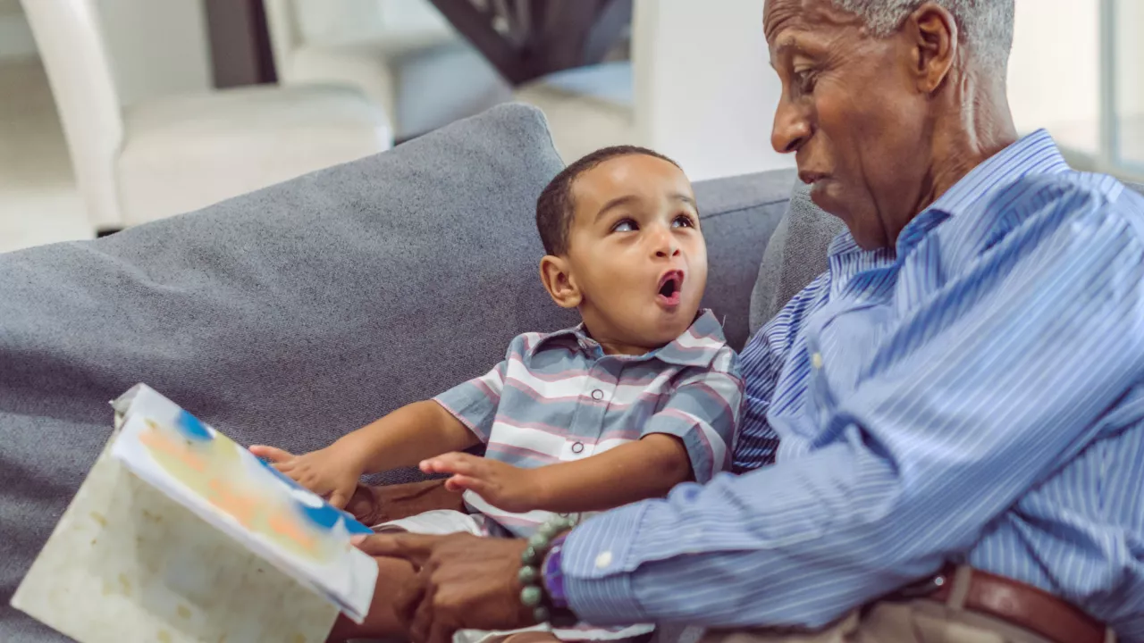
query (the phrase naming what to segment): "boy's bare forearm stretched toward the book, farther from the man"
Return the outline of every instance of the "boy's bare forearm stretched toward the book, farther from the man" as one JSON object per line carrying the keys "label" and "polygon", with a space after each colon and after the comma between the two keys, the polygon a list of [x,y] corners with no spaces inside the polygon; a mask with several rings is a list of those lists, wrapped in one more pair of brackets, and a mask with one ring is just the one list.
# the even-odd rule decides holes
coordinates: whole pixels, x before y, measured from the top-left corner
{"label": "boy's bare forearm stretched toward the book, farther from the man", "polygon": [[416,402],[366,424],[335,444],[360,458],[364,473],[414,467],[426,458],[464,451],[479,438],[434,400]]}

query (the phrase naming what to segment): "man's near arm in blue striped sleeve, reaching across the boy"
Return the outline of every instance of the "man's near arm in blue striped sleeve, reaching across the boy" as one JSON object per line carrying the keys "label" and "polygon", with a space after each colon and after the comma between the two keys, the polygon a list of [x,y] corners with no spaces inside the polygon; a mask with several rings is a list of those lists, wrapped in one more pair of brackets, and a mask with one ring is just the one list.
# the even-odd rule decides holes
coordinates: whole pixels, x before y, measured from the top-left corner
{"label": "man's near arm in blue striped sleeve, reaching across the boy", "polygon": [[1141,378],[1134,214],[1066,201],[1089,209],[1038,213],[888,328],[884,359],[808,457],[573,530],[562,569],[577,614],[820,626],[971,548]]}

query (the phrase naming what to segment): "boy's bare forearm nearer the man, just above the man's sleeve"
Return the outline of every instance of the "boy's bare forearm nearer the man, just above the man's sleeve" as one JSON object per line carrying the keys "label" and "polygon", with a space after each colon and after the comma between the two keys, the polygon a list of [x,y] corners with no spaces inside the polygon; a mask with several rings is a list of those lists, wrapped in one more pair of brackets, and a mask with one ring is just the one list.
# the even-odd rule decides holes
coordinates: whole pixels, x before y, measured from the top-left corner
{"label": "boy's bare forearm nearer the man, just above the man's sleeve", "polygon": [[662,498],[691,478],[683,442],[652,434],[591,458],[535,469],[537,509],[601,511],[648,498]]}

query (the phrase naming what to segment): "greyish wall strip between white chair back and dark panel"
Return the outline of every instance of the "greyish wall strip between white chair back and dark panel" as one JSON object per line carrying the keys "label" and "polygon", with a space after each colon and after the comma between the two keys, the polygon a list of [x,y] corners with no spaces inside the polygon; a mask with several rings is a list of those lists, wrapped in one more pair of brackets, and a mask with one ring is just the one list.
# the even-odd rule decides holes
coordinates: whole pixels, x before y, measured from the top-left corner
{"label": "greyish wall strip between white chair back and dark panel", "polygon": [[97,0],[97,5],[124,105],[213,86],[202,0]]}

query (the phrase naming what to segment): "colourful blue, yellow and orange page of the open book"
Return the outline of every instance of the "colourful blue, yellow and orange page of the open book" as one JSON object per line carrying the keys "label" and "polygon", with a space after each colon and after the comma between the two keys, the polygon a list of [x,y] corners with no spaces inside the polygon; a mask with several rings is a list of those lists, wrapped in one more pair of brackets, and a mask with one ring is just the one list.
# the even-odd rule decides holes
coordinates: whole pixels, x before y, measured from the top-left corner
{"label": "colourful blue, yellow and orange page of the open book", "polygon": [[368,527],[143,384],[112,405],[113,458],[347,617],[365,618],[378,567],[350,537]]}

